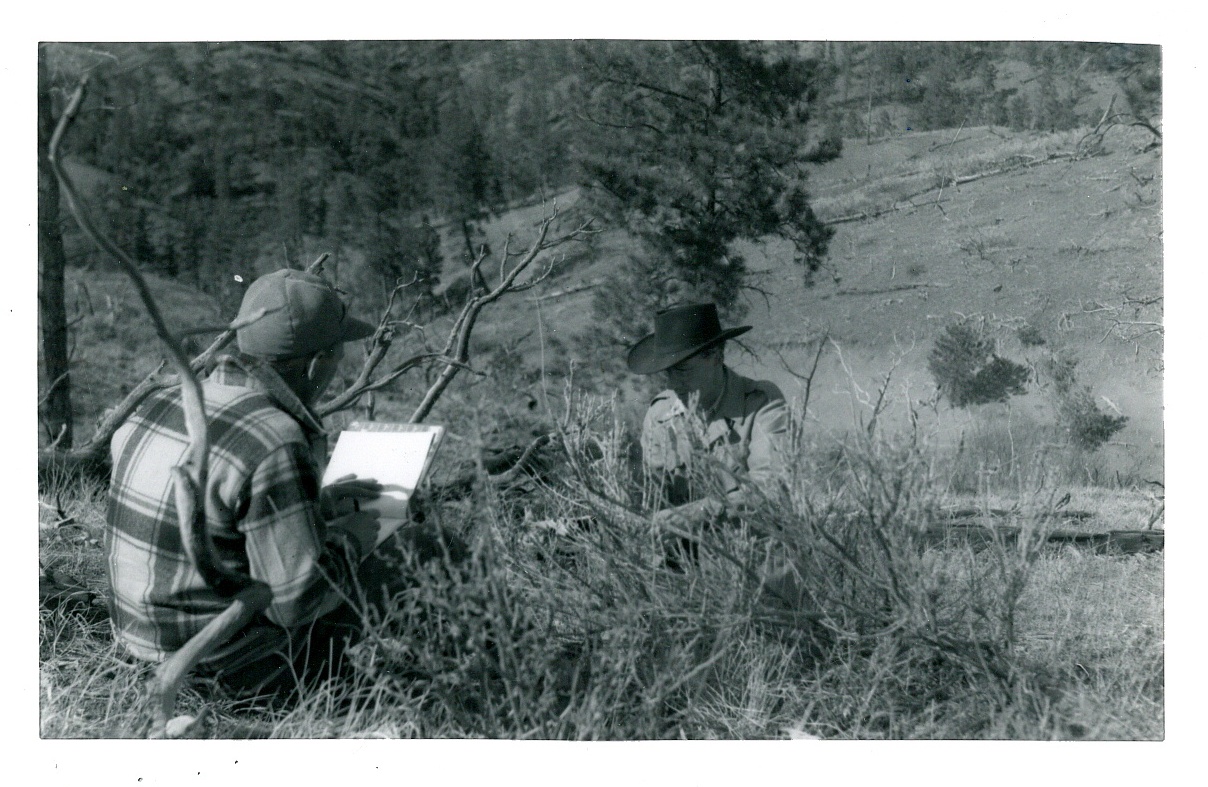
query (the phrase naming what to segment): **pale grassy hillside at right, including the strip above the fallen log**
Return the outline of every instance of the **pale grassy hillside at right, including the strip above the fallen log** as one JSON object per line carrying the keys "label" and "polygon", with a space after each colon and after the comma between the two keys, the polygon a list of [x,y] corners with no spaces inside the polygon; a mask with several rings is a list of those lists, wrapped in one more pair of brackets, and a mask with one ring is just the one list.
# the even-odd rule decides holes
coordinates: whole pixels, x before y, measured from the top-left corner
{"label": "pale grassy hillside at right, including the strip above the fallen log", "polygon": [[[830,255],[834,278],[812,290],[795,287],[796,277],[777,264],[776,249],[763,249],[767,276],[761,287],[774,295],[767,306],[753,301],[750,319],[762,345],[753,345],[757,358],[751,365],[795,387],[786,369],[776,369],[779,358],[769,351],[782,349],[788,365],[801,370],[812,349],[801,345],[827,334],[837,347],[819,369],[812,404],[820,422],[837,423],[850,411],[850,383],[872,386],[894,361],[900,363],[894,389],[929,398],[934,382],[927,354],[935,337],[945,325],[974,320],[1015,360],[1039,365],[1053,351],[1076,357],[1081,381],[1110,400],[1104,409],[1119,407],[1129,417],[1117,435],[1120,461],[1144,457],[1143,464],[1115,469],[1158,478],[1161,343],[1156,334],[1128,341],[1144,329],[1113,320],[1160,319],[1157,309],[1134,314],[1122,308],[1128,299],[1161,295],[1160,152],[1138,152],[1148,139],[1120,135],[1105,155],[1044,161],[1073,151],[1080,134],[1003,139],[987,129],[964,129],[920,137],[896,145],[895,155],[923,174],[873,174],[861,183],[849,173],[859,172],[861,158],[875,151],[859,149],[846,163],[823,170],[819,184],[835,183],[840,173],[848,178],[849,187],[829,197],[832,204],[884,195],[867,199],[873,210],[896,208],[840,225]],[[952,185],[1012,166],[1017,168]],[[867,164],[865,172],[870,168],[885,169]],[[929,191],[908,199],[894,193],[913,192],[907,183],[928,172],[934,173]],[[941,177],[945,185],[935,187]],[[826,202],[821,207],[826,210]],[[849,208],[841,210],[850,215]],[[1051,419],[1046,382],[1039,365],[1032,393],[1014,405],[1021,418]],[[933,410],[941,424],[966,415],[946,413],[942,404]]]}

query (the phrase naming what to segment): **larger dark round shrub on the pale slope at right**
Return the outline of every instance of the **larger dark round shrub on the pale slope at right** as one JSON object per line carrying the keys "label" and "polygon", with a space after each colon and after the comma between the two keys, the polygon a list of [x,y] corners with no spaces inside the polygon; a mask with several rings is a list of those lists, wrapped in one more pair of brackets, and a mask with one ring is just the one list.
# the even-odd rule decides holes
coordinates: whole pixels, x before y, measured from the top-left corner
{"label": "larger dark round shrub on the pale slope at right", "polygon": [[969,325],[945,329],[928,357],[936,386],[956,407],[1006,401],[1024,393],[1028,368],[994,352],[994,342]]}

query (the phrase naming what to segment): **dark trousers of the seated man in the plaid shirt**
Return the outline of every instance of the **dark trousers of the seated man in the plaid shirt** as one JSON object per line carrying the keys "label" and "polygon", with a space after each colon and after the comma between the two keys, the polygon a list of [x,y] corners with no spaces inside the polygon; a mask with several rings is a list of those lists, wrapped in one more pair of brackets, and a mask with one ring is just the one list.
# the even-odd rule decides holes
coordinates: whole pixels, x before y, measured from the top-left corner
{"label": "dark trousers of the seated man in the plaid shirt", "polygon": [[[365,637],[366,623],[379,618],[396,594],[414,585],[408,566],[441,561],[452,568],[467,556],[465,543],[448,531],[431,525],[400,528],[361,562],[359,598],[345,601],[300,631],[286,632],[271,624],[249,626],[222,648],[230,655],[201,665],[197,672],[238,696],[288,695],[327,678],[347,677],[347,652]],[[266,641],[275,642],[267,655],[239,658],[239,653],[263,653]]]}

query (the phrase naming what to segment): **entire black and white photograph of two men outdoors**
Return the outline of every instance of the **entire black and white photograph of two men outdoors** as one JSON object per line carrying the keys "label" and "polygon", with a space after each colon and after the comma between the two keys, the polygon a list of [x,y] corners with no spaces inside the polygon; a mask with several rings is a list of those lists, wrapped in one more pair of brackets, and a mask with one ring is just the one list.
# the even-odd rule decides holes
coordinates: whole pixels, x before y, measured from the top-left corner
{"label": "entire black and white photograph of two men outdoors", "polygon": [[41,35],[37,737],[1166,741],[1165,47],[807,29]]}

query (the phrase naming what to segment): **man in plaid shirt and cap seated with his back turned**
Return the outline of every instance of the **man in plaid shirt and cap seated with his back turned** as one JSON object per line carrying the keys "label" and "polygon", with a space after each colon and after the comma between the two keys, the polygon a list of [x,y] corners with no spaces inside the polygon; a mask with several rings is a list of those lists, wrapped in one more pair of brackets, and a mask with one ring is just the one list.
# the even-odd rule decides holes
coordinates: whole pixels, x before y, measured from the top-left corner
{"label": "man in plaid shirt and cap seated with his back turned", "polygon": [[[267,584],[272,603],[198,665],[252,693],[333,672],[356,638],[360,588],[389,591],[397,579],[381,561],[362,563],[378,522],[356,503],[377,497],[379,485],[349,478],[319,488],[326,445],[310,410],[336,375],[343,343],[373,326],[347,314],[323,278],[301,271],[254,282],[240,317],[259,309],[267,313],[237,331],[239,352],[222,357],[203,382],[211,445],[204,498],[220,557]],[[180,539],[170,468],[187,444],[180,389],[170,388],[149,397],[111,445],[110,612],[121,646],[152,662],[231,602],[207,585]],[[420,546],[432,551],[430,540]]]}

